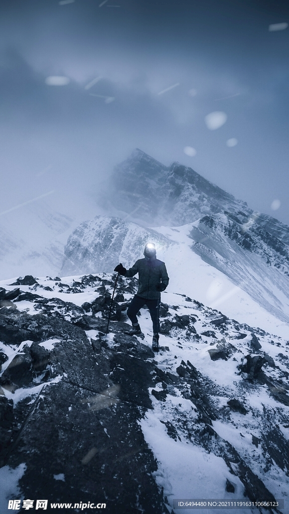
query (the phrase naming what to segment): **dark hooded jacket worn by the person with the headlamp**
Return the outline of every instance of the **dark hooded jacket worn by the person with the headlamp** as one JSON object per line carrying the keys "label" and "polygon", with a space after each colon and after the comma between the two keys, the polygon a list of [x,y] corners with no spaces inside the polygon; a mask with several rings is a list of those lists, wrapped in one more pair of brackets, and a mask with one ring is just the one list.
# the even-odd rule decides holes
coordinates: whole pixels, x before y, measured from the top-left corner
{"label": "dark hooded jacket worn by the person with the headlamp", "polygon": [[169,283],[169,277],[164,262],[159,261],[156,257],[149,259],[139,259],[128,269],[125,277],[133,277],[138,273],[138,290],[137,296],[147,298],[147,300],[157,300],[160,298],[160,292],[156,290],[157,284],[164,284],[166,287]]}

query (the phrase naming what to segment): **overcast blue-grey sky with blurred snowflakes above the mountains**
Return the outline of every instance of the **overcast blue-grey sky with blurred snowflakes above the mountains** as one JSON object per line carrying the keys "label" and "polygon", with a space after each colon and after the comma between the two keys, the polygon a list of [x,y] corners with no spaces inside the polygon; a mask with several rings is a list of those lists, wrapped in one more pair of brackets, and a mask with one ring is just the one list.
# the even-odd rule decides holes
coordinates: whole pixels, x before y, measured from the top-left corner
{"label": "overcast blue-grey sky with blurred snowflakes above the mountains", "polygon": [[53,190],[86,218],[138,147],[289,224],[288,3],[68,2],[1,0],[1,212]]}

